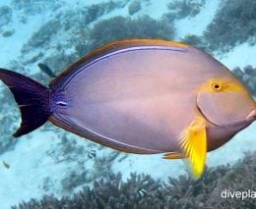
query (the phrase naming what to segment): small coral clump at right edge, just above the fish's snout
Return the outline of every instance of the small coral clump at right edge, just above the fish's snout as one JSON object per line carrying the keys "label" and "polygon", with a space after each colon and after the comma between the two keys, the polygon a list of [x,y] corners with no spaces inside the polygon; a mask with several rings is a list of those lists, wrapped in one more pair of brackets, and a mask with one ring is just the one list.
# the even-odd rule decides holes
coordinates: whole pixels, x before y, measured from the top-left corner
{"label": "small coral clump at right edge, just above the fish's snout", "polygon": [[232,72],[249,88],[250,92],[256,96],[256,68],[247,65],[242,70],[236,67]]}

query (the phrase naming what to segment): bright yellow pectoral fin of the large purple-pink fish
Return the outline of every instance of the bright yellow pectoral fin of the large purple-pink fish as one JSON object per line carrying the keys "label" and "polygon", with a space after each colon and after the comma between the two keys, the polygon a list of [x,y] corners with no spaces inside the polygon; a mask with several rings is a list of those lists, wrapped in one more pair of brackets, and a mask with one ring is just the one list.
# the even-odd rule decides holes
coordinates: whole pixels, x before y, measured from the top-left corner
{"label": "bright yellow pectoral fin of the large purple-pink fish", "polygon": [[197,118],[181,135],[180,146],[188,157],[192,174],[199,179],[205,168],[207,153],[206,123]]}

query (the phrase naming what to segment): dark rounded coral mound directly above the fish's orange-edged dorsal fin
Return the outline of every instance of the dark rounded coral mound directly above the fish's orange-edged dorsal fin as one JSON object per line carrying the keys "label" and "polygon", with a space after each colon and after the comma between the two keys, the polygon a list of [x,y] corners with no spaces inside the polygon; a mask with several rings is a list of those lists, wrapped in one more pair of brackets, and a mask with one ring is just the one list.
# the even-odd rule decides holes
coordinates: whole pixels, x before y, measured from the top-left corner
{"label": "dark rounded coral mound directly above the fish's orange-edged dorsal fin", "polygon": [[[86,44],[76,47],[79,56],[105,43],[125,38],[165,38],[173,37],[174,28],[164,21],[156,21],[148,16],[137,19],[113,17],[96,23]],[[84,47],[83,47],[84,46]]]}

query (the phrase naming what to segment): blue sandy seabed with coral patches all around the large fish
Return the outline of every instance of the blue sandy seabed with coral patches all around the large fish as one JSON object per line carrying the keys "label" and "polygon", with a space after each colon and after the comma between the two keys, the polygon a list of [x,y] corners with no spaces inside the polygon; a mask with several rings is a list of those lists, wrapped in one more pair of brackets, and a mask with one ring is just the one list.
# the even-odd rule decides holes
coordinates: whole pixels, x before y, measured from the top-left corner
{"label": "blue sandy seabed with coral patches all around the large fish", "polygon": [[[47,85],[96,47],[161,38],[212,54],[256,96],[255,0],[1,0],[0,68]],[[189,77],[189,75],[188,75]],[[47,123],[14,138],[19,109],[0,83],[0,208],[255,208],[256,124],[208,153],[198,181],[182,160],[103,147]]]}

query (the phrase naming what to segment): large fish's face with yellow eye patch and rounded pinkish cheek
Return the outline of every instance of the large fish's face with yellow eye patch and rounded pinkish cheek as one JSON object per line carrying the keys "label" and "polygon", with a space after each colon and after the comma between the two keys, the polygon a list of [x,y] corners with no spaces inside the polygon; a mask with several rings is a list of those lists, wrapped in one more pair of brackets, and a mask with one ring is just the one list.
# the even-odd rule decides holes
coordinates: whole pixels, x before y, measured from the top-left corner
{"label": "large fish's face with yellow eye patch and rounded pinkish cheek", "polygon": [[234,77],[207,80],[198,90],[197,106],[210,123],[220,127],[245,128],[256,120],[256,102]]}

